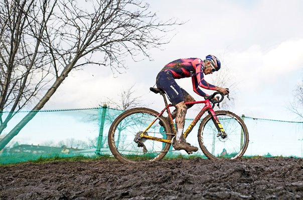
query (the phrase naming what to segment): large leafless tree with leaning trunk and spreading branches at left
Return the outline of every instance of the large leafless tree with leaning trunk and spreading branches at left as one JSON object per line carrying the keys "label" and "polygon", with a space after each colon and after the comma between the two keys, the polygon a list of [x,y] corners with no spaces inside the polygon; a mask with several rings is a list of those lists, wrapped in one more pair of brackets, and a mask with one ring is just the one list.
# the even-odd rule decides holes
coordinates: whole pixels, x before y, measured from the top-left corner
{"label": "large leafless tree with leaning trunk and spreading branches at left", "polygon": [[96,64],[119,72],[126,56],[149,58],[148,49],[168,43],[166,32],[176,24],[160,21],[138,0],[0,1],[0,134],[17,111],[32,109],[0,141],[0,150],[71,70]]}

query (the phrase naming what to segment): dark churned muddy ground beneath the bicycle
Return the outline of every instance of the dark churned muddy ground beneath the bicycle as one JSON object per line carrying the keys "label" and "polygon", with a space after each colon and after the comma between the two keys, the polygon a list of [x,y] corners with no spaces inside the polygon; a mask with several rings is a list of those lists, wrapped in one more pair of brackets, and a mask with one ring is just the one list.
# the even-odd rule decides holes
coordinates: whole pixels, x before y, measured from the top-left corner
{"label": "dark churned muddy ground beneath the bicycle", "polygon": [[303,159],[0,166],[0,199],[303,199]]}

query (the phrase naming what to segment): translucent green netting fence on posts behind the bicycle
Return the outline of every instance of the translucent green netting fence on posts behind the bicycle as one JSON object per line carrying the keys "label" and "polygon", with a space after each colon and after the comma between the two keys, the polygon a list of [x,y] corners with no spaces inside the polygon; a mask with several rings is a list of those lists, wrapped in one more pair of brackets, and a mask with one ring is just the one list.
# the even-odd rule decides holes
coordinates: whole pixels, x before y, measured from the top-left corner
{"label": "translucent green netting fence on posts behind the bicycle", "polygon": [[[82,109],[41,110],[0,151],[0,164],[54,156],[111,155],[107,134],[112,121],[123,110],[106,106]],[[1,133],[0,141],[26,114],[21,111]],[[3,112],[3,117],[9,114]],[[249,132],[249,145],[244,156],[302,156],[303,122],[281,121],[242,116]],[[187,118],[185,126],[191,123]],[[199,146],[199,122],[187,140]],[[167,156],[186,154],[170,151]],[[193,155],[205,157],[199,149]]]}

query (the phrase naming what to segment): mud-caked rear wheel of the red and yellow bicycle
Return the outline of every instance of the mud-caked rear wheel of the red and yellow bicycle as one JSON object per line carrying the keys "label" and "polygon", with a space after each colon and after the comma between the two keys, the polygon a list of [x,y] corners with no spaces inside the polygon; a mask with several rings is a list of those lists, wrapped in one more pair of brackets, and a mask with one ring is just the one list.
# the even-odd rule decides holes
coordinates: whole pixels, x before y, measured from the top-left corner
{"label": "mud-caked rear wheel of the red and yellow bicycle", "polygon": [[[134,141],[158,115],[159,112],[153,109],[138,107],[117,116],[108,132],[108,145],[112,154],[123,163],[161,160],[170,149],[171,143],[146,139],[143,143],[148,151],[144,153],[143,147],[138,147]],[[160,121],[162,125],[159,124]],[[170,124],[164,116],[160,116],[146,132],[147,135],[165,139],[173,137]]]}

